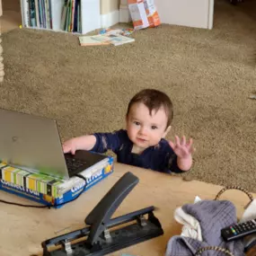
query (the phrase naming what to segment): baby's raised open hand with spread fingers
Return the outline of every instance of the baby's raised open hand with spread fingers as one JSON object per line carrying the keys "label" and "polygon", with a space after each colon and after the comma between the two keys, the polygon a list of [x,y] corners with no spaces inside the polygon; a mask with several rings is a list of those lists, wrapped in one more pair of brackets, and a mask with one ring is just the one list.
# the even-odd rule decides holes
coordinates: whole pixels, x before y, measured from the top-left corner
{"label": "baby's raised open hand with spread fingers", "polygon": [[180,137],[175,136],[175,144],[171,140],[169,141],[169,145],[172,146],[174,153],[184,159],[190,157],[191,154],[195,151],[192,144],[193,139],[190,138],[190,140],[186,142],[185,136],[181,137],[181,139]]}

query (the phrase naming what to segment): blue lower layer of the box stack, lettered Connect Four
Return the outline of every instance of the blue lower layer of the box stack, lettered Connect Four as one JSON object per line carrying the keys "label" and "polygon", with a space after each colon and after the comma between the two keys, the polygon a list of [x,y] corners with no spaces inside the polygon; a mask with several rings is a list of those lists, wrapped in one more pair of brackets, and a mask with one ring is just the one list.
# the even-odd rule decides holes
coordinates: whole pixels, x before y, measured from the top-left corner
{"label": "blue lower layer of the box stack, lettered Connect Four", "polygon": [[92,188],[95,184],[105,179],[113,172],[113,158],[109,158],[109,165],[102,168],[98,172],[93,172],[93,174],[87,178],[87,185],[84,190],[85,181],[81,179],[81,183],[73,187],[71,190],[66,191],[63,195],[57,198],[42,194],[36,190],[31,190],[29,188],[22,187],[21,185],[13,184],[8,181],[0,180],[0,190],[12,193],[14,195],[20,196],[25,199],[31,199],[43,205],[49,205],[55,208],[62,207],[60,204],[68,203],[69,201],[75,199],[82,190],[86,191]]}

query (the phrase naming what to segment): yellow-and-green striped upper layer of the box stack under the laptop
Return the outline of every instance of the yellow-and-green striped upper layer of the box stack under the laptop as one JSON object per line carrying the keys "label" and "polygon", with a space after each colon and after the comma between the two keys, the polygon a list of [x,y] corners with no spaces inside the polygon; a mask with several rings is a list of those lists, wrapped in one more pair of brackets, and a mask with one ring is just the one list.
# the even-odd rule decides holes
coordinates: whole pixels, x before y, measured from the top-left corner
{"label": "yellow-and-green striped upper layer of the box stack under the laptop", "polygon": [[[89,160],[88,163],[90,163]],[[110,171],[112,169],[112,165],[112,157],[106,156],[99,163],[90,164],[90,166],[88,166],[88,168],[83,172],[80,172],[80,174],[83,175],[85,179],[90,179],[90,177],[102,169],[106,170],[106,172],[108,170]],[[76,176],[70,178],[68,181],[60,180],[44,173],[35,173],[23,170],[22,168],[12,166],[4,162],[0,162],[0,179],[22,186],[23,188],[28,188],[29,190],[40,192],[41,194],[47,194],[54,198],[59,197],[66,193],[66,191],[71,190],[75,186],[79,186],[81,182],[84,182],[84,180]]]}

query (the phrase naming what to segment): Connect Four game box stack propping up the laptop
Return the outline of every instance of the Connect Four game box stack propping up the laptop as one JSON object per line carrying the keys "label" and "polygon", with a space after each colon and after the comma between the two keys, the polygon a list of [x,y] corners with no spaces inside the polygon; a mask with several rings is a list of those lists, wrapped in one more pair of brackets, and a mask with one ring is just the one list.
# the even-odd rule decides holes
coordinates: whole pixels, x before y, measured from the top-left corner
{"label": "Connect Four game box stack propping up the laptop", "polygon": [[[86,179],[88,190],[113,172],[113,158],[106,156],[99,163],[80,172]],[[0,190],[5,190],[45,205],[63,204],[74,199],[84,190],[85,181],[72,177],[68,181],[58,180],[43,173],[29,172],[0,161]],[[85,191],[84,190],[84,191]]]}

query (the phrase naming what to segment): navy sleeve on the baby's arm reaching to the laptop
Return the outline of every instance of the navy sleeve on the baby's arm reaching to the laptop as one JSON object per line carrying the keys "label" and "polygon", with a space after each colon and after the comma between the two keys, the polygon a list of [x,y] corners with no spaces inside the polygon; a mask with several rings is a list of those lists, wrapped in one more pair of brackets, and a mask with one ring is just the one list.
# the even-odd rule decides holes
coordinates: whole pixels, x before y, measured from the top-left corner
{"label": "navy sleeve on the baby's arm reaching to the laptop", "polygon": [[105,153],[108,150],[116,153],[120,147],[120,131],[112,133],[94,133],[96,143],[92,148],[93,152]]}

